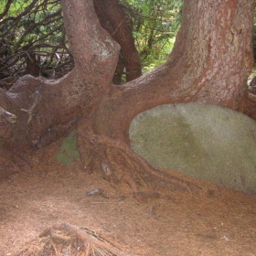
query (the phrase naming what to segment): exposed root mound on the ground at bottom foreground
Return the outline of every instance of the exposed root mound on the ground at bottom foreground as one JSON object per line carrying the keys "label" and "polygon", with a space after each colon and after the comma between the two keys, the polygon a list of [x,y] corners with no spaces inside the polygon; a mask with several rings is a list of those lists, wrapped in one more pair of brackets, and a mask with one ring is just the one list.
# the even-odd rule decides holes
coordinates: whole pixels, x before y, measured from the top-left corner
{"label": "exposed root mound on the ground at bottom foreground", "polygon": [[45,229],[39,237],[42,238],[41,248],[36,251],[27,249],[19,255],[135,256],[90,229],[79,229],[67,223],[55,224]]}

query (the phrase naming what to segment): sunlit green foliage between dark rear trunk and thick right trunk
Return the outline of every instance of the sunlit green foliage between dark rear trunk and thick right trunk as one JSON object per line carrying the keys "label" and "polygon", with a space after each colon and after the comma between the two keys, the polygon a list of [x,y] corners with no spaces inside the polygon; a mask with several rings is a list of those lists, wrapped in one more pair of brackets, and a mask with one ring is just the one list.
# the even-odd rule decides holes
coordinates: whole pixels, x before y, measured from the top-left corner
{"label": "sunlit green foliage between dark rear trunk and thick right trunk", "polygon": [[121,2],[126,6],[126,13],[133,18],[133,37],[144,71],[164,63],[170,55],[181,24],[183,0]]}

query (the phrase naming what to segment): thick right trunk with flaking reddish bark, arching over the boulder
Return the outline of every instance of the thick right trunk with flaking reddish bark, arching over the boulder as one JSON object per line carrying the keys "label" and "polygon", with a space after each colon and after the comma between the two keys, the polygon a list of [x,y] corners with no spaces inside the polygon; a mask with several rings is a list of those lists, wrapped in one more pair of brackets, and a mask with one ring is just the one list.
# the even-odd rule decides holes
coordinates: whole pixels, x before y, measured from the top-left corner
{"label": "thick right trunk with flaking reddish bark, arching over the boulder", "polygon": [[248,112],[253,5],[253,1],[185,1],[170,59],[135,82],[117,87],[102,101],[99,133],[127,140],[129,124],[138,112],[165,103],[204,101]]}

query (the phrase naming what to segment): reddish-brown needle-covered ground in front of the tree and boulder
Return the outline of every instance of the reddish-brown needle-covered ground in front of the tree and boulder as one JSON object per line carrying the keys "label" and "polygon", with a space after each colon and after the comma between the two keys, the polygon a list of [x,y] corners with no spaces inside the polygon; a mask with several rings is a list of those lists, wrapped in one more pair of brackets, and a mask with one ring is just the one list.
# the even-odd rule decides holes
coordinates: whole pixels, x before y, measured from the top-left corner
{"label": "reddish-brown needle-covered ground in front of the tree and boulder", "polygon": [[255,195],[195,181],[201,193],[157,183],[158,198],[134,199],[125,186],[124,197],[88,196],[95,187],[108,196],[116,191],[79,164],[61,165],[59,146],[29,156],[31,169],[0,183],[1,256],[37,255],[39,234],[56,223],[90,229],[123,255],[256,256]]}

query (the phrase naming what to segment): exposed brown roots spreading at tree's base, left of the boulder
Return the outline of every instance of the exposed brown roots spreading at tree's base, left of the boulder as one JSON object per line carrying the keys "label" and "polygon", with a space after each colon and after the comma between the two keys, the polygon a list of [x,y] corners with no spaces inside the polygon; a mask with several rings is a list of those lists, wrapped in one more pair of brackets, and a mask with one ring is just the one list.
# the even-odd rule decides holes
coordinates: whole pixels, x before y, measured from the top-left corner
{"label": "exposed brown roots spreading at tree's base, left of the boulder", "polygon": [[[80,147],[85,145],[87,148],[85,155],[83,150],[80,151],[84,168],[91,173],[92,169],[95,169],[95,165],[91,165],[91,163],[95,163],[94,160],[97,159],[97,162],[101,164],[100,166],[97,164],[96,169],[101,168],[103,176],[114,187],[118,187],[117,184],[124,181],[132,188],[133,193],[141,193],[142,187],[146,190],[149,188],[144,176],[152,176],[167,184],[186,189],[190,193],[202,189],[196,184],[169,175],[149,165],[143,157],[135,154],[129,145],[124,144],[121,140],[103,135],[88,135],[81,131],[78,135],[79,141],[85,142]],[[91,151],[90,148],[92,148]],[[92,153],[88,155],[88,152]]]}

